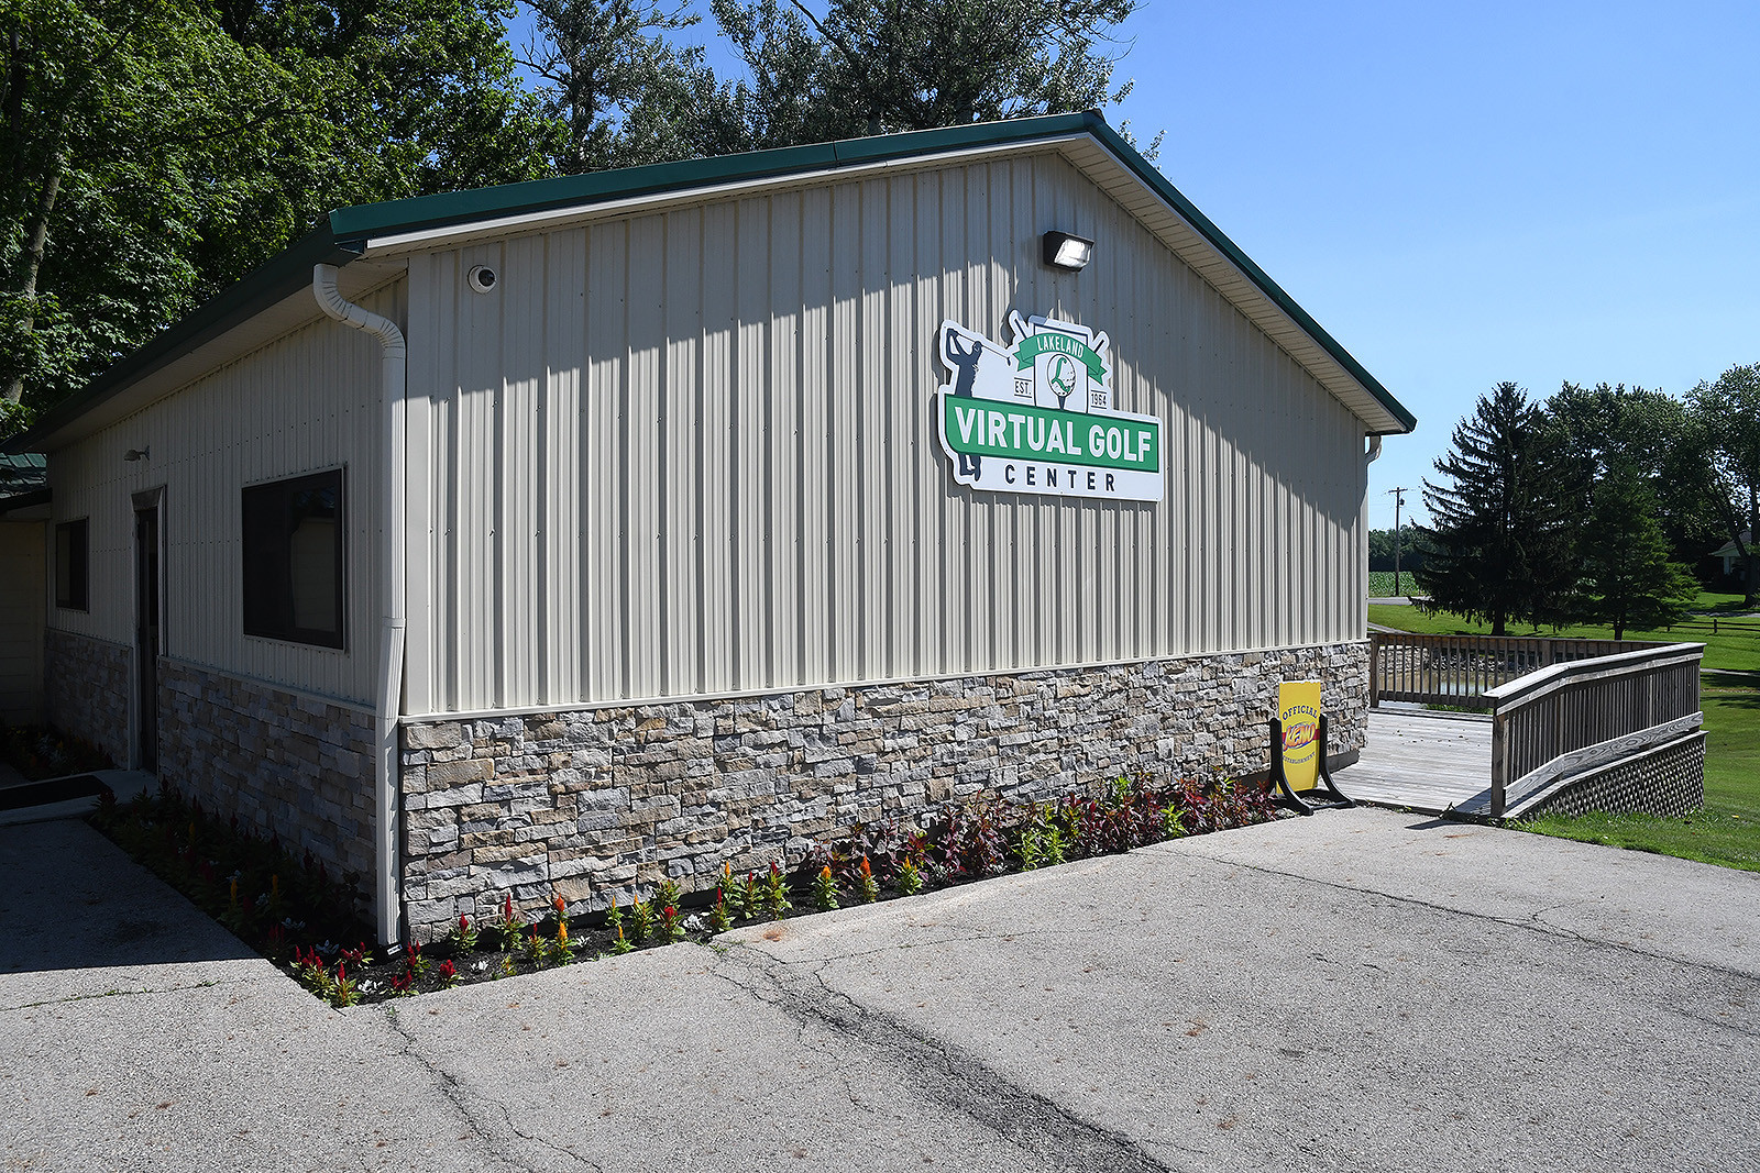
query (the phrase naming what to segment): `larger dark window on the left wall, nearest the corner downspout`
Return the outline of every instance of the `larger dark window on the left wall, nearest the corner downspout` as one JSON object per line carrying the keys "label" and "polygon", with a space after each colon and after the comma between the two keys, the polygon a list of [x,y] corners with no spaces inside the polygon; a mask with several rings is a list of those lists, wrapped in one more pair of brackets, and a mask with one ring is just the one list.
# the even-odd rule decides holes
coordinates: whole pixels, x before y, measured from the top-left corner
{"label": "larger dark window on the left wall, nearest the corner downspout", "polygon": [[245,635],[341,647],[341,470],[245,489]]}

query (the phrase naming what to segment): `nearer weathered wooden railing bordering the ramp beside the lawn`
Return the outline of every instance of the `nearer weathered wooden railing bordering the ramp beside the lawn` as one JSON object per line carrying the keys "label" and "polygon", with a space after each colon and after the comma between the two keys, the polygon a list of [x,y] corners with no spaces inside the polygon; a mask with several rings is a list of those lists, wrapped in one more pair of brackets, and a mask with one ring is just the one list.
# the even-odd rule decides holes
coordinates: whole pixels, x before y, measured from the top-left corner
{"label": "nearer weathered wooden railing bordering the ramp beside the lawn", "polygon": [[1487,689],[1491,816],[1508,795],[1582,774],[1691,733],[1704,644],[1660,644],[1556,663]]}

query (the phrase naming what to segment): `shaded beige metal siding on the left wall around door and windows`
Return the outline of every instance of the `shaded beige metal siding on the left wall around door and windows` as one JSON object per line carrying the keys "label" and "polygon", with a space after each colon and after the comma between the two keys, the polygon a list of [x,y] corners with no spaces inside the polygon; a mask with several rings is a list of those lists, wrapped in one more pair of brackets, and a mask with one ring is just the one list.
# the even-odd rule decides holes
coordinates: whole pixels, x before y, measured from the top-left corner
{"label": "shaded beige metal siding on the left wall around door and windows", "polygon": [[[361,304],[401,322],[403,285]],[[92,519],[92,610],[51,607],[49,624],[134,644],[134,494],[164,485],[164,654],[371,703],[380,614],[378,383],[378,343],[322,318],[51,454],[55,519]],[[151,454],[125,461],[128,448]],[[347,647],[246,637],[241,489],[338,466],[345,470],[348,526]]]}

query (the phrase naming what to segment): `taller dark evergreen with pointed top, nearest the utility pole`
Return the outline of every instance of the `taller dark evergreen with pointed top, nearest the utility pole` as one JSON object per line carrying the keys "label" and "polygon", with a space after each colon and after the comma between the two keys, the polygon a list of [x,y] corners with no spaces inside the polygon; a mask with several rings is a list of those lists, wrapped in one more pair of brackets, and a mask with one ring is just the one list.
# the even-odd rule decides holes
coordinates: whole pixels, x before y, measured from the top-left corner
{"label": "taller dark evergreen with pointed top, nearest the utility pole", "polygon": [[1491,623],[1565,623],[1577,579],[1568,501],[1573,477],[1558,431],[1515,383],[1480,396],[1436,459],[1452,484],[1424,482],[1431,524],[1420,528],[1424,566],[1415,572],[1426,610]]}

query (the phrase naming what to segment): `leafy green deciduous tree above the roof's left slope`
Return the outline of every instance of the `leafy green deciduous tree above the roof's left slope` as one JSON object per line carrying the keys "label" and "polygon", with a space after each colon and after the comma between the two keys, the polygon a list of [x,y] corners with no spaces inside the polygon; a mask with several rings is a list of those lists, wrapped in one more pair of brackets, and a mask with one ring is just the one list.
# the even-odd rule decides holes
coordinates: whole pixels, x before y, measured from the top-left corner
{"label": "leafy green deciduous tree above the roof's left slope", "polygon": [[9,0],[0,431],[340,204],[526,179],[502,0]]}

